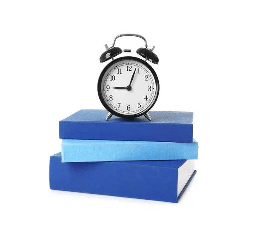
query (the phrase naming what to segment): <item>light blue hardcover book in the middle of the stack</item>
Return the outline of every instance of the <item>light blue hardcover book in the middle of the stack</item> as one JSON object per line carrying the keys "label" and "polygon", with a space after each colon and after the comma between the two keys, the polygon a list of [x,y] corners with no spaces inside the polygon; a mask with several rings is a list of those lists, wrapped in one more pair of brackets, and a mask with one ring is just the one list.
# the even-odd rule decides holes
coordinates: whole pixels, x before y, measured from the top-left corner
{"label": "light blue hardcover book in the middle of the stack", "polygon": [[62,162],[182,160],[198,158],[198,142],[62,140]]}

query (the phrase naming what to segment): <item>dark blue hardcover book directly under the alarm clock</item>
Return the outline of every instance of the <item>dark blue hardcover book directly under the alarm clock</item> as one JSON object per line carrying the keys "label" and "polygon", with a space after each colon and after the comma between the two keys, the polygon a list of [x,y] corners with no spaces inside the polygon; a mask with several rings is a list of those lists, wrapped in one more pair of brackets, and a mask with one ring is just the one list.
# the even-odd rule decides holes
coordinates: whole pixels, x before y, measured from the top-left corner
{"label": "dark blue hardcover book directly under the alarm clock", "polygon": [[150,111],[134,119],[113,116],[105,120],[107,110],[82,109],[59,121],[61,139],[192,142],[193,113]]}

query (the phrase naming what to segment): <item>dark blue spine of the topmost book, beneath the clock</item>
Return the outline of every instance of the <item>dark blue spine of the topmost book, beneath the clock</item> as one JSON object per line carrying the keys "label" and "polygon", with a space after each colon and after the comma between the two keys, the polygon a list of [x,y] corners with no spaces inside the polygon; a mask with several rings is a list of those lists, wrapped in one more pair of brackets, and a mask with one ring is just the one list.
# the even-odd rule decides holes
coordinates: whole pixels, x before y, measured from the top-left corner
{"label": "dark blue spine of the topmost book, beneath the clock", "polygon": [[60,121],[61,139],[159,141],[191,143],[193,124],[128,124]]}

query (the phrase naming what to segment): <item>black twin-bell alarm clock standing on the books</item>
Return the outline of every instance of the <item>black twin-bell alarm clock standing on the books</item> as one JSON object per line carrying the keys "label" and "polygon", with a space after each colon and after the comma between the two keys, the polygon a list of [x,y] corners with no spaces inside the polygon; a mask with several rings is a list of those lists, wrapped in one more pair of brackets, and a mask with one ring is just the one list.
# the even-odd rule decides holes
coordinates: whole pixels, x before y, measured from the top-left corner
{"label": "black twin-bell alarm clock standing on the books", "polygon": [[[122,52],[130,49],[114,47],[116,39],[122,36],[140,37],[145,41],[145,47],[137,49],[137,54],[144,58],[126,56],[114,59]],[[138,34],[120,34],[113,44],[101,56],[100,62],[112,60],[102,70],[98,80],[98,95],[102,105],[108,110],[106,120],[112,115],[121,118],[137,118],[142,115],[151,121],[148,111],[154,106],[159,95],[159,80],[151,65],[158,64],[159,59],[154,54],[154,46],[149,49],[146,39]]]}

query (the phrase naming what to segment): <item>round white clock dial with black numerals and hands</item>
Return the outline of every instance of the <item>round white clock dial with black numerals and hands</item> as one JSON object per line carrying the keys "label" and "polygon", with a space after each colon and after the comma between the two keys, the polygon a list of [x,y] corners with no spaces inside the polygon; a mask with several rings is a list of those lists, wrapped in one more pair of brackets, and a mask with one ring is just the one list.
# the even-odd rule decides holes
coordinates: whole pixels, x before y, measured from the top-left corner
{"label": "round white clock dial with black numerals and hands", "polygon": [[131,59],[116,61],[101,79],[101,94],[105,104],[113,112],[122,115],[147,112],[158,95],[158,81],[152,70],[142,60]]}

